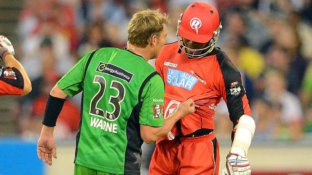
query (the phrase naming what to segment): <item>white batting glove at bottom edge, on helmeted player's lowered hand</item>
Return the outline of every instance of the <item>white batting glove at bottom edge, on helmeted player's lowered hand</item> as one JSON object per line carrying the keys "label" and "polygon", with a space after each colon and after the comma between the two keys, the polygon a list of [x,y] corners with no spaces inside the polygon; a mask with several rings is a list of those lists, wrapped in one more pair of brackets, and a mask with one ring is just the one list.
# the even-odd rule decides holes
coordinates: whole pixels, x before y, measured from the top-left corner
{"label": "white batting glove at bottom edge, on helmeted player's lowered hand", "polygon": [[252,170],[247,157],[239,156],[237,154],[228,154],[226,157],[225,168],[223,168],[222,175],[251,175]]}

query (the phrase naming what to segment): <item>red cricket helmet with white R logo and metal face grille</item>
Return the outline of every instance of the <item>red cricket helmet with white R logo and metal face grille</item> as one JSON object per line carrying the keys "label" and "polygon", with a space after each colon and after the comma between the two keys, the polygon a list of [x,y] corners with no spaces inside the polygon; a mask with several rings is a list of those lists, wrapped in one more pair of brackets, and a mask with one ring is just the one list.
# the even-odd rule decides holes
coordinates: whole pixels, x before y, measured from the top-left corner
{"label": "red cricket helmet with white R logo and metal face grille", "polygon": [[[198,43],[208,43],[203,49],[192,49],[194,51],[207,50],[205,53],[198,55],[186,53],[191,57],[203,57],[211,52],[215,47],[220,29],[222,28],[219,13],[214,6],[205,2],[193,2],[189,5],[177,21],[176,36],[179,46],[183,51],[183,47],[187,48],[182,38],[186,38]],[[185,53],[185,51],[183,51]]]}

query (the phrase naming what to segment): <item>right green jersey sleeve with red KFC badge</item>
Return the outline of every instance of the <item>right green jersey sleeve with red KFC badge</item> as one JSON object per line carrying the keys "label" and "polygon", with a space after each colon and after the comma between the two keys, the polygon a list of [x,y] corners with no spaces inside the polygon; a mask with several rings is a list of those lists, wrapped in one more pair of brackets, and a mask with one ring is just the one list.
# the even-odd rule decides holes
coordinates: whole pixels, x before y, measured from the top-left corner
{"label": "right green jersey sleeve with red KFC badge", "polygon": [[159,127],[163,125],[164,84],[158,74],[143,88],[139,123]]}

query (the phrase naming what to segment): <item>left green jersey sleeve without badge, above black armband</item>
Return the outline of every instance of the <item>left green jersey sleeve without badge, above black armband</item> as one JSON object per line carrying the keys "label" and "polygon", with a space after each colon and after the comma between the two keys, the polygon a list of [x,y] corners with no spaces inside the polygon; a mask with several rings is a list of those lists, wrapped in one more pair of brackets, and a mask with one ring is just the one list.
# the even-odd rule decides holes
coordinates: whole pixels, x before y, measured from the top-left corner
{"label": "left green jersey sleeve without badge, above black armband", "polygon": [[73,97],[83,89],[84,72],[91,52],[82,57],[57,83],[68,96]]}

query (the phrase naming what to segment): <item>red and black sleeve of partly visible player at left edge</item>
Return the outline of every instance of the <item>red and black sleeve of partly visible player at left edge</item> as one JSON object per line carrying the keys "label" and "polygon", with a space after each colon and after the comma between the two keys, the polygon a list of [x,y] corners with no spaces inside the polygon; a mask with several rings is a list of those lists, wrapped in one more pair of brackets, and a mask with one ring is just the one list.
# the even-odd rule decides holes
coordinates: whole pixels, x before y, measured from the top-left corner
{"label": "red and black sleeve of partly visible player at left edge", "polygon": [[24,79],[20,70],[10,67],[0,67],[0,96],[21,95],[23,88]]}

